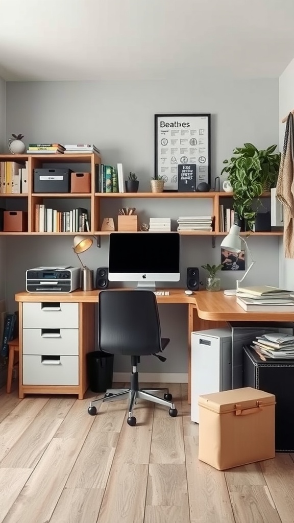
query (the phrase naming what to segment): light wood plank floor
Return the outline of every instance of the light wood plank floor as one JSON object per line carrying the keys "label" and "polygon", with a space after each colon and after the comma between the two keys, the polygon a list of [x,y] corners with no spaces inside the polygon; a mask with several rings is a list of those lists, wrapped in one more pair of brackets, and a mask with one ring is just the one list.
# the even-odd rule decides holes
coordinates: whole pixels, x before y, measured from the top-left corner
{"label": "light wood plank floor", "polygon": [[198,461],[187,385],[178,408],[0,390],[0,522],[293,523],[294,456],[219,472]]}

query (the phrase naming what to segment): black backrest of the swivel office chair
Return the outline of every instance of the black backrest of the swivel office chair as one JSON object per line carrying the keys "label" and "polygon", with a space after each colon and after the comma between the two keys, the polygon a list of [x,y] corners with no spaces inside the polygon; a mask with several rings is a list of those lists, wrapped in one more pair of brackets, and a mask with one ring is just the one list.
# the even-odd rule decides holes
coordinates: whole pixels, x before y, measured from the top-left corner
{"label": "black backrest of the swivel office chair", "polygon": [[98,311],[100,350],[126,356],[143,356],[162,350],[154,292],[101,291]]}

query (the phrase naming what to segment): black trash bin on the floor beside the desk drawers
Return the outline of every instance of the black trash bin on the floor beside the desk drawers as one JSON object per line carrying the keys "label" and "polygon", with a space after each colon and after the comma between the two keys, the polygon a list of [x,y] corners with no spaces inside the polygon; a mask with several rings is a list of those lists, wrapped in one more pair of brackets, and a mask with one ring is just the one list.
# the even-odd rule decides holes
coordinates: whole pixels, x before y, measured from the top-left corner
{"label": "black trash bin on the floor beside the desk drawers", "polygon": [[114,355],[94,350],[87,354],[89,388],[92,392],[105,392],[112,386]]}

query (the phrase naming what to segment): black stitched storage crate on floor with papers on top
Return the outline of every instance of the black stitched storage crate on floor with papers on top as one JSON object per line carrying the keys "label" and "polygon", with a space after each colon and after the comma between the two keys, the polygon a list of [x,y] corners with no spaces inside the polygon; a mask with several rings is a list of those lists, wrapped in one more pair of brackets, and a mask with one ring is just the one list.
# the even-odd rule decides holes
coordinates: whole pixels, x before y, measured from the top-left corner
{"label": "black stitched storage crate on floor with papers on top", "polygon": [[294,452],[294,358],[263,361],[245,345],[243,386],[275,394],[276,452]]}

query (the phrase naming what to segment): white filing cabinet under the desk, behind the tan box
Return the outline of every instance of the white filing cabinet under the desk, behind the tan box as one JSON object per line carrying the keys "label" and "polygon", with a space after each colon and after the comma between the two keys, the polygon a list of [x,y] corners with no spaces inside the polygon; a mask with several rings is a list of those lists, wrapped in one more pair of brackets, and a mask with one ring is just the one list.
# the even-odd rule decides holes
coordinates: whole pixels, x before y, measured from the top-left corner
{"label": "white filing cabinet under the desk, behind the tan box", "polygon": [[229,327],[191,334],[191,420],[199,423],[198,396],[231,389]]}

